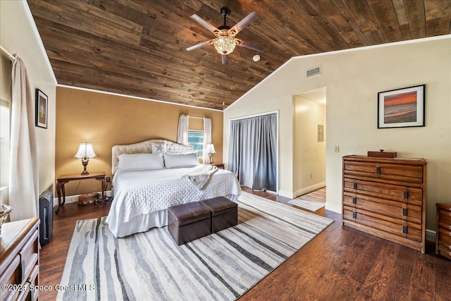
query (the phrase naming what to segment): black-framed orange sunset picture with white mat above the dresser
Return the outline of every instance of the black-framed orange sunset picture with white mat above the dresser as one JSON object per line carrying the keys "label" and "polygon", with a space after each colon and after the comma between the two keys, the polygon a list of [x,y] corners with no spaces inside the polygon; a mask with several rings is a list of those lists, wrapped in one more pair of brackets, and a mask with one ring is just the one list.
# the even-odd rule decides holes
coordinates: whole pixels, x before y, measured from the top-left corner
{"label": "black-framed orange sunset picture with white mat above the dresser", "polygon": [[378,128],[424,126],[425,86],[378,93]]}

